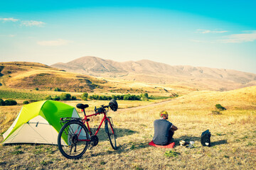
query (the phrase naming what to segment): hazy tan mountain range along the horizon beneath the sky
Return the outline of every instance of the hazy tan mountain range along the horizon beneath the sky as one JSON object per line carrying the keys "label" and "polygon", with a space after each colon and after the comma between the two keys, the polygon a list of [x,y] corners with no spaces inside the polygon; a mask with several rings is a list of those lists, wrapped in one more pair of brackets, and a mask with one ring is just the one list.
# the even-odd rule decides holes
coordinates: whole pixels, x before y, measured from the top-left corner
{"label": "hazy tan mountain range along the horizon beneath the sky", "polygon": [[67,63],[58,62],[51,67],[95,77],[113,77],[149,84],[176,84],[201,90],[228,91],[256,85],[256,74],[252,73],[187,65],[171,66],[151,60],[114,62],[87,56]]}

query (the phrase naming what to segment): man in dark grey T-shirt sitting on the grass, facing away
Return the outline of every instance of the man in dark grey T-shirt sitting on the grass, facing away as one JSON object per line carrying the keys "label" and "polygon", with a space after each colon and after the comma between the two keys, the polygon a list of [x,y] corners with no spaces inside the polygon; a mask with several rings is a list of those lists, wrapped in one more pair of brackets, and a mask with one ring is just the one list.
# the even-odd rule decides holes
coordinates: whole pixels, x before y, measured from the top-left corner
{"label": "man in dark grey T-shirt sitting on the grass, facing away", "polygon": [[159,115],[160,119],[154,120],[153,142],[156,145],[169,145],[174,131],[178,128],[167,120],[168,113],[166,111],[161,111]]}

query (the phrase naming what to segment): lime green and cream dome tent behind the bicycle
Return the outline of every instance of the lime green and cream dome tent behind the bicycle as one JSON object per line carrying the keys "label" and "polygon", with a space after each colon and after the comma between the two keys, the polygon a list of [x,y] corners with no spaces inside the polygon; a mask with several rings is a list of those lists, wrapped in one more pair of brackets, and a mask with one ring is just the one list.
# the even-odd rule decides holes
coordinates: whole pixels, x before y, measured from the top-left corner
{"label": "lime green and cream dome tent behind the bicycle", "polygon": [[[4,133],[3,144],[41,143],[57,145],[60,118],[79,118],[73,106],[58,101],[38,101],[25,105]],[[66,143],[66,142],[65,142]]]}

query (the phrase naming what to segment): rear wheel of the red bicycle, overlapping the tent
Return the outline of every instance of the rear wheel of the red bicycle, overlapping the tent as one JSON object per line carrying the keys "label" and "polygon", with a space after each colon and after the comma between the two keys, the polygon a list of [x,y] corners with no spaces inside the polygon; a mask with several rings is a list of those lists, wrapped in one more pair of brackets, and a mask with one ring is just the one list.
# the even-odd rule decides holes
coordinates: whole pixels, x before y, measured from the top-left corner
{"label": "rear wheel of the red bicycle, overlapping the tent", "polygon": [[78,159],[85,153],[89,143],[88,130],[82,122],[65,123],[58,134],[58,149],[68,159]]}

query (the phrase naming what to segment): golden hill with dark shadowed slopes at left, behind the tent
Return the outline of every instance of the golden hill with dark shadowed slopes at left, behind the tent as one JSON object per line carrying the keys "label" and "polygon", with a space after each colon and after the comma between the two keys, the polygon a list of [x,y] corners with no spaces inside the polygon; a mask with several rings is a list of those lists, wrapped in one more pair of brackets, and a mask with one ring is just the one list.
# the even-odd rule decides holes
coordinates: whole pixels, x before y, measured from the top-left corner
{"label": "golden hill with dark shadowed slopes at left, behind the tent", "polygon": [[59,88],[63,91],[93,91],[106,81],[73,74],[34,62],[0,62],[0,86],[11,89]]}

